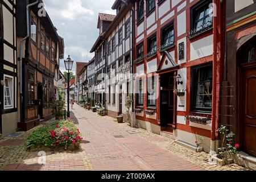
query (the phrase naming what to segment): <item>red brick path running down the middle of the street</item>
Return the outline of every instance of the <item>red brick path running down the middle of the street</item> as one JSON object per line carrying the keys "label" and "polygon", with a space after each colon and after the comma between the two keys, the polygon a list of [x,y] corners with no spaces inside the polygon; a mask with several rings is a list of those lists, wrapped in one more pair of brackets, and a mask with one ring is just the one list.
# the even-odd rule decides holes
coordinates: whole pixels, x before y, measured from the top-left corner
{"label": "red brick path running down the middle of the street", "polygon": [[[81,171],[85,170],[84,159],[87,163],[89,161],[95,170],[202,170],[154,143],[135,134],[129,134],[117,125],[98,117],[95,113],[85,111],[82,107],[74,105],[71,116],[78,122],[78,127],[84,135],[81,146],[88,156],[76,160],[47,161],[46,165],[9,164],[5,170]],[[165,140],[165,138],[152,137],[152,141],[160,140]]]}

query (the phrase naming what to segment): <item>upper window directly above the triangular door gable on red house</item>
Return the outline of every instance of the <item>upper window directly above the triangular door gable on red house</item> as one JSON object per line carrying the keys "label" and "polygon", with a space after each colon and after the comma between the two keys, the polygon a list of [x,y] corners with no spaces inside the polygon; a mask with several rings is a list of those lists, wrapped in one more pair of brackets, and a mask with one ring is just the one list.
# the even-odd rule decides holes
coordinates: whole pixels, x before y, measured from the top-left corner
{"label": "upper window directly above the triangular door gable on red house", "polygon": [[170,47],[174,44],[174,23],[162,29],[162,48]]}

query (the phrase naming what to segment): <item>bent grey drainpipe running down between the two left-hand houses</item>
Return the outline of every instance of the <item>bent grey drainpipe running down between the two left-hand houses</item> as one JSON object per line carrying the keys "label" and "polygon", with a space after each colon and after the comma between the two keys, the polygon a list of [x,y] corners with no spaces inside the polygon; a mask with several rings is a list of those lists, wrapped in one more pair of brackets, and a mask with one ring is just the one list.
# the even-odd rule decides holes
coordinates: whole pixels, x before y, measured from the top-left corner
{"label": "bent grey drainpipe running down between the two left-hand houses", "polygon": [[[38,3],[38,0],[36,0],[34,3],[31,3],[31,4],[27,5],[27,36],[24,37],[20,41],[20,52],[19,52],[19,54],[20,54],[20,56],[19,56],[19,60],[20,60],[20,90],[19,90],[19,92],[20,92],[20,106],[21,106],[20,108],[22,108],[22,104],[23,104],[23,92],[22,92],[22,87],[23,87],[23,82],[22,82],[22,78],[23,78],[23,74],[22,74],[22,72],[23,72],[23,61],[22,61],[23,45],[22,45],[22,43],[25,40],[27,40],[27,38],[30,36],[30,21],[29,21],[29,19],[30,19],[30,17],[29,17],[29,15],[30,15],[30,12],[29,12],[30,7],[36,5],[37,3]],[[22,111],[20,111],[20,115],[21,115],[20,120],[22,120]]]}

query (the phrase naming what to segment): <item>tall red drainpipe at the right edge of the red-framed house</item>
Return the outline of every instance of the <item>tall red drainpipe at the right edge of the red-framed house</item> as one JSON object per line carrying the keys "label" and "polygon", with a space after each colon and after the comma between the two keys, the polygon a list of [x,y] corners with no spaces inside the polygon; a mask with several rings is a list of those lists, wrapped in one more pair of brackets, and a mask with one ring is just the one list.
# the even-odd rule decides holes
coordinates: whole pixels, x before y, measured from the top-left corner
{"label": "tall red drainpipe at the right edge of the red-framed house", "polygon": [[213,0],[213,94],[212,94],[212,130],[210,150],[216,151],[216,83],[217,83],[217,0]]}

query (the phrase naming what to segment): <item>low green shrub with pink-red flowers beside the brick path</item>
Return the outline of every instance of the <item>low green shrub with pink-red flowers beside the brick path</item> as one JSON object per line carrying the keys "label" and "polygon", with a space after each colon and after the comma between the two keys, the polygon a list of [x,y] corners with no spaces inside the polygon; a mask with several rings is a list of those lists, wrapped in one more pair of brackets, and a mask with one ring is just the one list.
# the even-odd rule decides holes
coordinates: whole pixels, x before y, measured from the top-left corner
{"label": "low green shrub with pink-red flowers beside the brick path", "polygon": [[55,121],[48,126],[40,127],[32,132],[25,144],[27,149],[32,147],[64,147],[79,146],[82,142],[79,129],[69,118],[67,121]]}

